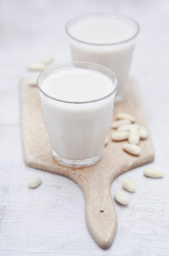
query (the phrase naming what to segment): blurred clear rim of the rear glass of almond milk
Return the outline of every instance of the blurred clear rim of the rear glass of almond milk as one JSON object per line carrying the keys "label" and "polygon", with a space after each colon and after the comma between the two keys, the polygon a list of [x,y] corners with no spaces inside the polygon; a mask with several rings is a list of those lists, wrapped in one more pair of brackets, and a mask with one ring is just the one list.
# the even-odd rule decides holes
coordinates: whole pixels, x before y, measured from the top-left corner
{"label": "blurred clear rim of the rear glass of almond milk", "polygon": [[[116,42],[116,43],[108,43],[108,44],[97,44],[97,43],[89,43],[89,42],[85,42],[85,41],[81,41],[80,39],[77,39],[75,38],[74,36],[71,35],[70,31],[69,31],[69,26],[72,22],[74,21],[78,21],[78,20],[82,20],[82,19],[85,19],[85,18],[94,18],[94,17],[99,17],[99,15],[101,16],[112,16],[112,17],[119,17],[119,18],[122,18],[122,19],[126,19],[126,20],[129,20],[130,22],[132,22],[134,25],[136,25],[136,33],[134,33],[133,36],[129,37],[128,39],[125,39],[123,41],[119,41],[119,42]],[[136,38],[136,36],[139,34],[139,31],[140,31],[140,26],[139,26],[139,23],[134,20],[133,18],[129,17],[128,15],[125,15],[125,14],[121,14],[121,13],[116,13],[116,12],[95,12],[95,13],[89,13],[89,14],[83,14],[83,15],[80,15],[78,17],[75,17],[73,19],[70,19],[66,25],[65,25],[65,31],[66,31],[66,34],[71,38],[73,39],[74,41],[77,41],[79,43],[83,43],[83,44],[87,44],[87,45],[95,45],[95,46],[111,46],[111,45],[118,45],[118,44],[123,44],[123,43],[127,43],[129,41],[131,41],[132,39]]]}

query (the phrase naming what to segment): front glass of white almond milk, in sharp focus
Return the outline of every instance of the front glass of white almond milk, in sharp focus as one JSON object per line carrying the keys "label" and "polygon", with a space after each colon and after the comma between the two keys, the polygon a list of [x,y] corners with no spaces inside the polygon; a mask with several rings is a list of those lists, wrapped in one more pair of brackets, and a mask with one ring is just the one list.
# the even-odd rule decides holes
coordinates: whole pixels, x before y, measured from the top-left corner
{"label": "front glass of white almond milk, in sharp focus", "polygon": [[43,118],[56,161],[80,167],[102,157],[117,85],[113,71],[89,62],[56,65],[39,75]]}

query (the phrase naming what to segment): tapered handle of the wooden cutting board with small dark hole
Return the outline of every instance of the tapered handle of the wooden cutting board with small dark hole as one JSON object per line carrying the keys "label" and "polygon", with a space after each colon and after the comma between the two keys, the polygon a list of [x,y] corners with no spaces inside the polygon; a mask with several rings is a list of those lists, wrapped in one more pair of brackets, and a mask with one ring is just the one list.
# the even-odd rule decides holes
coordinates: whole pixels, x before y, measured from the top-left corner
{"label": "tapered handle of the wooden cutting board with small dark hole", "polygon": [[86,198],[86,222],[88,229],[100,247],[111,246],[116,229],[117,215],[111,196],[111,184],[98,179],[83,187]]}

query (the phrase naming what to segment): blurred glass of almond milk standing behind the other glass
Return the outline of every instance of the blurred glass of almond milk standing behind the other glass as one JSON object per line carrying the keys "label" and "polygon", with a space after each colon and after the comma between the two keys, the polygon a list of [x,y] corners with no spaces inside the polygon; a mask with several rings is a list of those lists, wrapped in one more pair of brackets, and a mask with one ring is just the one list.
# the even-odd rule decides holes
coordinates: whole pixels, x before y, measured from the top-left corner
{"label": "blurred glass of almond milk standing behind the other glass", "polygon": [[111,69],[119,81],[115,102],[123,100],[138,23],[122,14],[96,13],[66,25],[73,61],[95,62]]}

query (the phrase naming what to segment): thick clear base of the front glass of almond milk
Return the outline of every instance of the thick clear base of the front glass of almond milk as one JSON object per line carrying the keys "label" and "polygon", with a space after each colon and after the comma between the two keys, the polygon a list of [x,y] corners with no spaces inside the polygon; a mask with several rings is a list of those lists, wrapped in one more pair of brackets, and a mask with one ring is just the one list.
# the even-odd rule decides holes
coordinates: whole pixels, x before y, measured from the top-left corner
{"label": "thick clear base of the front glass of almond milk", "polygon": [[87,159],[82,159],[82,160],[71,160],[71,159],[60,157],[56,154],[54,150],[52,150],[52,154],[53,154],[53,157],[56,159],[56,161],[59,162],[60,164],[78,168],[78,167],[90,166],[97,163],[99,159],[103,156],[103,150],[97,156],[87,158]]}

